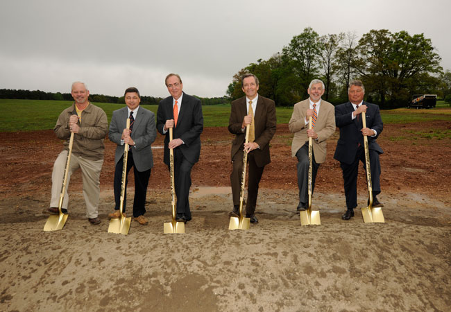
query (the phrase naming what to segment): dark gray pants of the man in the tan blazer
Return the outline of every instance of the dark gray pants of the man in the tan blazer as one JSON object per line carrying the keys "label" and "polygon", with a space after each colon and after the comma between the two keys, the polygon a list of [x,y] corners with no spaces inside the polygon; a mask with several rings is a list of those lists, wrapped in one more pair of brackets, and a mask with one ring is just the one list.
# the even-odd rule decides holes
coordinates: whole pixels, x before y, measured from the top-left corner
{"label": "dark gray pants of the man in the tan blazer", "polygon": [[[309,202],[309,143],[305,142],[303,147],[296,152],[298,158],[298,188],[299,204],[307,207]],[[315,162],[315,155],[312,153],[312,194],[315,189],[316,173],[318,173],[319,164]]]}

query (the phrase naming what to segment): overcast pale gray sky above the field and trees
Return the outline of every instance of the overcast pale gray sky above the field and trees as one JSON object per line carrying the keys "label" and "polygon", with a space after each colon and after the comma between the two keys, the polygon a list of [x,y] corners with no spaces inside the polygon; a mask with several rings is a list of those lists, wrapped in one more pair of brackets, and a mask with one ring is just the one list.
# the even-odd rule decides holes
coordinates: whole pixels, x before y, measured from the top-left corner
{"label": "overcast pale gray sky above the field and trees", "polygon": [[451,69],[450,0],[1,0],[0,89],[223,96],[250,62],[282,51],[312,27],[319,35],[371,29],[424,33]]}

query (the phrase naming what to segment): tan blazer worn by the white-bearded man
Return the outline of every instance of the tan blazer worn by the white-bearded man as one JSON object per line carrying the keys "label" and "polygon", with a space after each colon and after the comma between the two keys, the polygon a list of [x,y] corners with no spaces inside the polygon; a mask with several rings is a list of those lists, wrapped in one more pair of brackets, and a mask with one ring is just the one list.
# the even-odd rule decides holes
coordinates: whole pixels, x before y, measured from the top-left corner
{"label": "tan blazer worn by the white-bearded man", "polygon": [[[293,114],[288,124],[290,132],[294,133],[293,143],[291,144],[291,157],[295,157],[299,148],[303,147],[305,142],[309,141],[307,137],[308,123],[305,125],[305,113],[310,108],[309,99],[296,103],[293,108]],[[318,135],[318,141],[312,140],[315,162],[321,164],[325,162],[326,140],[335,132],[335,114],[334,105],[321,99],[318,117],[314,126]]]}

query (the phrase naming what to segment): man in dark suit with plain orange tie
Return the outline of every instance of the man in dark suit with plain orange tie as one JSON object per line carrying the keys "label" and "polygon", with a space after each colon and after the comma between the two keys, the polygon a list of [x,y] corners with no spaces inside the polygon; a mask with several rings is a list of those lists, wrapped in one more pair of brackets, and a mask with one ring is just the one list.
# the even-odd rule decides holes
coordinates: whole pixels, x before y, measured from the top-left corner
{"label": "man in dark suit with plain orange tie", "polygon": [[[178,222],[191,220],[189,210],[189,188],[191,168],[201,155],[201,133],[203,130],[202,104],[198,98],[182,91],[182,79],[169,73],[165,80],[171,96],[158,105],[157,129],[164,138],[164,164],[169,167],[169,148],[174,153],[174,180],[177,196]],[[169,141],[169,128],[173,128],[173,140]]]}

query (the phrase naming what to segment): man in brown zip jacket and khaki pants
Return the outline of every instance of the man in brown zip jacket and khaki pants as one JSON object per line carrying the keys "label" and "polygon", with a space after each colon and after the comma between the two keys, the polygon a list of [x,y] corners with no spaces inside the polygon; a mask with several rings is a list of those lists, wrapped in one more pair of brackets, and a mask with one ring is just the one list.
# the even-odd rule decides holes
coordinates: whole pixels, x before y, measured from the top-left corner
{"label": "man in brown zip jacket and khaki pants", "polygon": [[[84,83],[73,83],[71,94],[75,100],[74,104],[62,111],[53,129],[56,137],[65,140],[65,142],[64,150],[53,164],[49,211],[58,214],[58,203],[69,150],[69,138],[71,132],[74,132],[67,188],[71,174],[80,168],[83,177],[83,196],[86,202],[87,218],[91,224],[96,225],[100,223],[98,218],[99,178],[103,164],[103,151],[105,150],[103,139],[108,133],[108,120],[101,108],[94,106],[87,100],[90,92]],[[69,196],[66,191],[61,208],[63,213],[67,213],[68,202]]]}

